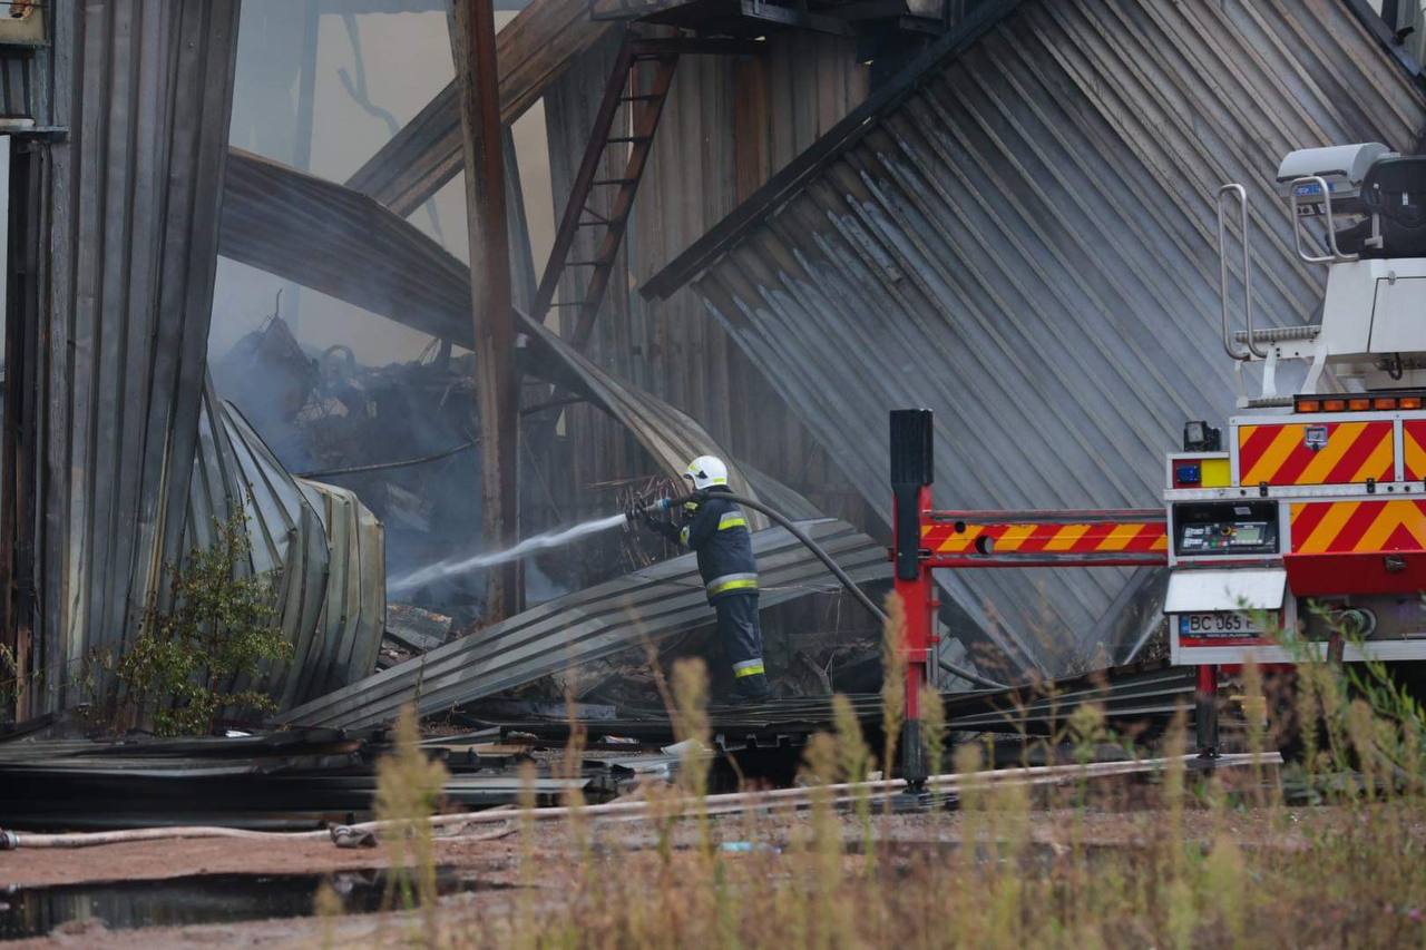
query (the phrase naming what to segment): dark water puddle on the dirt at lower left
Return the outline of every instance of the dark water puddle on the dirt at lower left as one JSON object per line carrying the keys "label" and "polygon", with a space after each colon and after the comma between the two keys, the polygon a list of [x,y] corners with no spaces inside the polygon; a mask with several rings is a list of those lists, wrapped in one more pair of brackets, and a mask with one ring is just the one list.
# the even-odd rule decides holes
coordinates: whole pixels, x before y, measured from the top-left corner
{"label": "dark water puddle on the dirt at lower left", "polygon": [[[43,937],[70,921],[101,921],[108,930],[170,927],[312,914],[312,897],[327,877],[347,913],[381,910],[385,870],[334,874],[193,874],[168,880],[117,880],[51,887],[0,887],[0,940]],[[496,890],[456,869],[436,872],[442,894]],[[396,906],[401,906],[399,896]]]}

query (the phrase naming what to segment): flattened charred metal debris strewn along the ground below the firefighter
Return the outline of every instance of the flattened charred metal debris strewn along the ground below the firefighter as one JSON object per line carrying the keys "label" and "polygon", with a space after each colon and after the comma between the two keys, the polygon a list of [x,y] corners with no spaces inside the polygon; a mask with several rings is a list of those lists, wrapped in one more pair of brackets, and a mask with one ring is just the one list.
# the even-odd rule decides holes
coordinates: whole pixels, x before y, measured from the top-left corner
{"label": "flattened charred metal debris strewn along the ground below the firefighter", "polygon": [[[1022,765],[1044,762],[1037,756],[1052,749],[1084,705],[1094,705],[1109,729],[1135,735],[1145,723],[1161,729],[1179,709],[1192,709],[1194,686],[1189,670],[1148,663],[1011,690],[943,693],[941,703],[951,735],[992,737],[997,763]],[[881,698],[848,699],[864,733],[878,742]],[[809,737],[830,719],[826,696],[757,706],[714,703],[713,747],[704,753],[710,789],[793,782]],[[1232,720],[1236,730],[1239,719]],[[41,737],[56,725],[46,720],[33,723],[30,735],[0,735],[4,829],[351,824],[369,817],[376,760],[394,749],[386,727],[228,730],[190,739]],[[526,762],[535,765],[539,805],[562,803],[573,790],[590,803],[636,795],[646,783],[672,782],[689,762],[689,750],[674,745],[673,717],[657,708],[498,699],[429,716],[426,725],[421,746],[446,766],[443,797],[453,812],[519,802],[530,782],[520,775]]]}

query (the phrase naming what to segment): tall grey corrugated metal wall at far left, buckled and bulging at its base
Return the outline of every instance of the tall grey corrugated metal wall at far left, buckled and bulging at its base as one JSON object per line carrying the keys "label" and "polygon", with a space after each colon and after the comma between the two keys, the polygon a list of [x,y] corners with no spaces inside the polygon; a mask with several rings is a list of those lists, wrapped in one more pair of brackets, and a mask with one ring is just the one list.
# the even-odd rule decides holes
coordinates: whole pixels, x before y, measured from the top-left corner
{"label": "tall grey corrugated metal wall at far left, buckled and bulging at its base", "polygon": [[97,699],[164,565],[238,506],[295,648],[264,685],[288,706],[359,679],[385,620],[381,525],[351,492],[294,481],[205,384],[237,3],[46,11],[53,46],[6,67],[63,130],[13,165],[34,254],[6,352],[14,712]]}

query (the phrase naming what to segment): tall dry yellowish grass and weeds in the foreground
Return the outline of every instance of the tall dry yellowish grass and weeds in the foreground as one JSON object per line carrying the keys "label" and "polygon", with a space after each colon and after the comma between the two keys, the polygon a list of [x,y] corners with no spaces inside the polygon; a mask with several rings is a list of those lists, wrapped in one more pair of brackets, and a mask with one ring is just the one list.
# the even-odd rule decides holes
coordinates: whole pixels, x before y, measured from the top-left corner
{"label": "tall dry yellowish grass and weeds in the foreground", "polygon": [[[1171,759],[1154,782],[1132,787],[971,785],[955,812],[915,822],[917,842],[866,796],[854,799],[850,827],[834,810],[824,786],[860,779],[874,763],[838,703],[837,733],[816,736],[806,752],[809,812],[712,820],[704,773],[684,769],[680,789],[655,793],[657,847],[592,849],[576,816],[569,837],[580,844],[568,873],[552,877],[548,866],[535,870],[529,822],[528,889],[486,903],[475,923],[442,914],[412,939],[442,947],[1422,946],[1426,719],[1373,676],[1370,668],[1303,668],[1298,713],[1316,727],[1305,730],[1310,747],[1293,782],[1320,807],[1285,805],[1275,769],[1239,770],[1246,777],[1235,786]],[[680,736],[704,740],[702,670],[680,668],[673,680]],[[1256,753],[1269,742],[1262,689],[1248,670]],[[1102,717],[1077,713],[1067,735],[1087,753],[1105,739]],[[1184,747],[1179,716],[1158,752]],[[930,752],[940,760],[940,749]],[[954,760],[975,772],[981,750],[963,745]],[[1129,829],[1115,846],[1091,833],[1107,813],[1122,813]],[[736,850],[722,846],[730,837]]]}

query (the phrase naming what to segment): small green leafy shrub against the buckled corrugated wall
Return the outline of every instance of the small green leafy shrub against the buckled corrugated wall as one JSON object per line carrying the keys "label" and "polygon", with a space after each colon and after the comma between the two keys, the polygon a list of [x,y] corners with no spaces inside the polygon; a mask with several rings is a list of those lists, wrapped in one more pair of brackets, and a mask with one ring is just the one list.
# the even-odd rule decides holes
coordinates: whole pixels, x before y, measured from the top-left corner
{"label": "small green leafy shrub against the buckled corrugated wall", "polygon": [[224,709],[272,712],[258,689],[230,692],[238,676],[254,678],[267,662],[292,655],[277,625],[268,576],[240,573],[251,542],[241,509],[212,519],[214,542],[170,566],[168,602],[144,611],[143,632],[118,660],[118,686],[133,722],[153,719],[161,736],[212,730]]}

